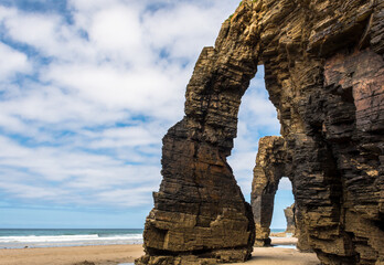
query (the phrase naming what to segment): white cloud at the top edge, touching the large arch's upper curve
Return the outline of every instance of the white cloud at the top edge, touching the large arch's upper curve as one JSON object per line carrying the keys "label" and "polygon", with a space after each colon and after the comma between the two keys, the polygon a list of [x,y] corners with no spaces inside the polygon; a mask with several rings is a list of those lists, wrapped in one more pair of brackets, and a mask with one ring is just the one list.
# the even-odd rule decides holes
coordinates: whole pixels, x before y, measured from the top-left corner
{"label": "white cloud at the top edge, touching the large arch's upper curve", "polygon": [[[157,50],[166,50],[171,57],[195,60],[204,45],[214,43],[222,22],[217,19],[223,15],[220,11],[222,9],[202,9],[184,2],[172,9],[147,13],[145,26]],[[213,24],[215,26],[207,26]]]}

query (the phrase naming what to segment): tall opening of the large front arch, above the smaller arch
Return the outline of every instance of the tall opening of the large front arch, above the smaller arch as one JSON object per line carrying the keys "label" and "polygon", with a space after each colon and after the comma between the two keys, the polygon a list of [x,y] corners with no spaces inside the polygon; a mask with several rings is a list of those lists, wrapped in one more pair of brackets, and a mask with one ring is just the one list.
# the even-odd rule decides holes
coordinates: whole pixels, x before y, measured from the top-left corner
{"label": "tall opening of the large front arch, above the smaller arch", "polygon": [[249,203],[258,141],[265,136],[280,135],[277,110],[269,100],[264,75],[264,65],[258,65],[255,77],[250,80],[242,97],[237,115],[237,137],[234,139],[232,153],[227,157],[237,184]]}

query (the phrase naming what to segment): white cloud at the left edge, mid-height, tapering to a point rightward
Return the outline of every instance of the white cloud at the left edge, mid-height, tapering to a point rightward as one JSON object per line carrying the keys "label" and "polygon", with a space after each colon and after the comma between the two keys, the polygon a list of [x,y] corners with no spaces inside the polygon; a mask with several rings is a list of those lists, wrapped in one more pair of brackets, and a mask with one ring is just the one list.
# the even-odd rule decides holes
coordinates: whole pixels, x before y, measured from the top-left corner
{"label": "white cloud at the left edge, mid-height, tapering to a point rightward", "polygon": [[129,118],[122,109],[107,108],[54,86],[28,85],[29,89],[19,93],[13,92],[14,86],[4,88],[9,99],[0,100],[0,128],[8,132],[40,137],[42,128],[77,130]]}

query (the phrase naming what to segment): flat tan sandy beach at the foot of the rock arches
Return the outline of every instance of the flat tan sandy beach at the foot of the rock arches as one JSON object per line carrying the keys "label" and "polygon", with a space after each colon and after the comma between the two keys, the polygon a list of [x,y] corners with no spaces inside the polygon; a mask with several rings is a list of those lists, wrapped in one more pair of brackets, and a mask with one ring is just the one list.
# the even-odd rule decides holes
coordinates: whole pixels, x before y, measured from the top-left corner
{"label": "flat tan sandy beach at the foot of the rock arches", "polygon": [[[296,239],[273,239],[273,244],[292,244]],[[93,262],[96,265],[132,263],[143,254],[141,245],[96,245],[71,247],[42,247],[22,250],[0,250],[1,265],[74,265]],[[299,253],[294,248],[255,247],[253,258],[245,265],[317,265],[314,254]]]}

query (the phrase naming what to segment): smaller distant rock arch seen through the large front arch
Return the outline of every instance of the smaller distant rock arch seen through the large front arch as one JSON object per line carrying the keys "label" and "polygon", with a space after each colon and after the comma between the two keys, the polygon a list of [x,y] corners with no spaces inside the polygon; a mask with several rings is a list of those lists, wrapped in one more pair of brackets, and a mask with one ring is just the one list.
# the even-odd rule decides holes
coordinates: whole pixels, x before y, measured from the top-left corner
{"label": "smaller distant rock arch seen through the large front arch", "polygon": [[[292,182],[292,158],[287,151],[286,141],[279,136],[267,136],[259,140],[254,179],[252,182],[250,204],[256,226],[255,246],[270,245],[270,223],[274,213],[275,194],[281,178]],[[295,187],[295,184],[292,184]],[[295,189],[292,190],[295,197]],[[296,237],[298,248],[310,252],[308,232],[302,223],[302,213],[295,208]]]}

